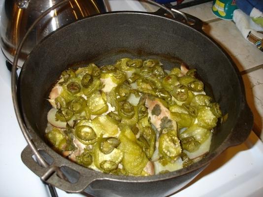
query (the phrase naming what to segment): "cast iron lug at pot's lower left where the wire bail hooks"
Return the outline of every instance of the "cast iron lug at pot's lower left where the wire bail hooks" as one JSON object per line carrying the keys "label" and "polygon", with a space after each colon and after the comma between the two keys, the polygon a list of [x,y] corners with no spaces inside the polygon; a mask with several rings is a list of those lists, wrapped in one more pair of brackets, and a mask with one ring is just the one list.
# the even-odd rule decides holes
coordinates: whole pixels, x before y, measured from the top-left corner
{"label": "cast iron lug at pot's lower left where the wire bail hooks", "polygon": [[[22,151],[21,159],[23,163],[28,168],[30,168],[30,170],[32,170],[37,176],[39,176],[45,183],[53,185],[68,193],[80,193],[84,191],[93,181],[101,178],[101,173],[98,173],[97,171],[87,169],[85,167],[82,167],[81,165],[71,165],[70,161],[64,161],[63,164],[59,163],[58,161],[60,160],[53,159],[58,157],[53,151],[45,149],[44,152],[47,154],[43,154],[46,155],[43,157],[47,160],[48,163],[51,163],[48,167],[42,167],[33,159],[34,154],[29,145],[27,145],[26,148]],[[48,158],[52,158],[53,160],[50,160]],[[89,172],[80,173],[83,170],[89,170]],[[66,176],[67,173],[70,173],[70,175]],[[64,177],[60,178],[59,175],[62,175]]]}

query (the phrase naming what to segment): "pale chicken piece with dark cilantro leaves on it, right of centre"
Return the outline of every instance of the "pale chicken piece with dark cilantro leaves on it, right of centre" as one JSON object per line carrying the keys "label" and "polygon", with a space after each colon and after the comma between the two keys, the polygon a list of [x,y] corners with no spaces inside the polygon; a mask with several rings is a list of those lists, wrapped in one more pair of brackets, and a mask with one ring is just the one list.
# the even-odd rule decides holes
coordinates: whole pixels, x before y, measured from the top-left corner
{"label": "pale chicken piece with dark cilantro leaves on it, right of centre", "polygon": [[160,99],[146,98],[145,105],[148,108],[148,117],[155,128],[160,132],[165,128],[177,131],[177,124],[171,119],[170,111]]}

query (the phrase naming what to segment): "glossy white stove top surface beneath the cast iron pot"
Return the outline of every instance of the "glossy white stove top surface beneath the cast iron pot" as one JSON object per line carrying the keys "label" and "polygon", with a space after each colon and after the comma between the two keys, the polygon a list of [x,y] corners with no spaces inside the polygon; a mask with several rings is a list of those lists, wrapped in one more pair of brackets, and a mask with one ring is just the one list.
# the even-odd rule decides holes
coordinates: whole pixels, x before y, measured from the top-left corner
{"label": "glossy white stove top surface beneath the cast iron pot", "polygon": [[[3,0],[0,0],[0,7]],[[145,11],[135,0],[109,0],[111,10]],[[0,196],[48,197],[47,188],[21,161],[27,143],[18,126],[11,97],[11,77],[0,53]],[[252,132],[245,143],[231,147],[172,197],[262,197],[263,143]],[[59,197],[83,197],[57,189]]]}

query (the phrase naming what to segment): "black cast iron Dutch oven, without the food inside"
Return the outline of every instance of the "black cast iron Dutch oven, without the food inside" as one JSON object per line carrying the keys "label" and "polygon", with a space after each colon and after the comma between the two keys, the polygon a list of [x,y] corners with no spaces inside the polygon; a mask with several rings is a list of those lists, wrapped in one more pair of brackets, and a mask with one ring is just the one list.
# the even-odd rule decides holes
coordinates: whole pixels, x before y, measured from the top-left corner
{"label": "black cast iron Dutch oven, without the food inside", "polygon": [[[190,16],[189,16],[190,17]],[[46,37],[33,49],[20,73],[18,98],[24,121],[33,143],[45,158],[61,168],[68,181],[55,173],[46,182],[69,193],[86,192],[98,197],[161,197],[174,193],[190,182],[212,159],[229,146],[248,137],[252,113],[245,100],[242,79],[227,53],[201,30],[181,18],[144,12],[112,12],[74,22]],[[68,66],[94,62],[99,66],[123,58],[159,59],[164,69],[180,61],[197,68],[206,91],[228,114],[213,135],[210,152],[189,167],[161,175],[126,177],[104,174],[72,163],[53,151],[44,140],[47,112],[51,108],[48,94]],[[28,147],[23,162],[38,176],[47,169],[32,159]]]}

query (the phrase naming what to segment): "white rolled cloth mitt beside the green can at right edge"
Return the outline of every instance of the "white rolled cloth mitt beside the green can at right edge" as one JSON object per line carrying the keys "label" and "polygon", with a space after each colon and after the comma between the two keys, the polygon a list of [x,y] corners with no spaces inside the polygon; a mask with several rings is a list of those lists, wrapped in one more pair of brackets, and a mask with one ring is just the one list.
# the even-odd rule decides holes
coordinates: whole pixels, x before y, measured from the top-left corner
{"label": "white rolled cloth mitt beside the green can at right edge", "polygon": [[263,27],[240,9],[234,10],[233,21],[243,37],[263,51]]}

